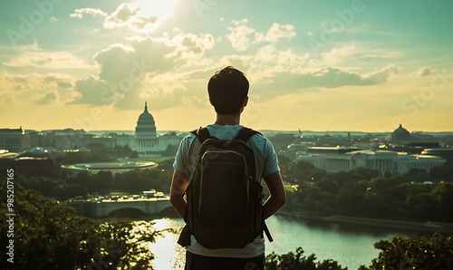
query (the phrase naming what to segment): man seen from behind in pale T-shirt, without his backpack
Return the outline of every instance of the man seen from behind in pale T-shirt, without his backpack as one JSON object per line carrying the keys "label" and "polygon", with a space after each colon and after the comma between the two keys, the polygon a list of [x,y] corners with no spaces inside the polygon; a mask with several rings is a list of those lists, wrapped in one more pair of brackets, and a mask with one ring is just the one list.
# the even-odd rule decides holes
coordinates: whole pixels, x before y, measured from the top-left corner
{"label": "man seen from behind in pale T-shirt, without his backpack", "polygon": [[[211,136],[219,140],[232,140],[238,130],[241,113],[248,101],[249,83],[243,72],[228,66],[216,72],[207,83],[209,101],[217,112],[214,124],[208,125]],[[256,176],[264,178],[270,196],[263,207],[264,218],[272,216],[285,203],[286,194],[280,176],[278,161],[272,143],[255,134],[247,145],[254,150]],[[183,198],[188,188],[188,178],[197,162],[200,142],[194,134],[185,137],[178,148],[170,188],[170,202],[181,217],[186,217],[188,204]],[[186,270],[191,269],[264,269],[265,239],[258,236],[244,248],[208,249],[190,237],[186,246]]]}

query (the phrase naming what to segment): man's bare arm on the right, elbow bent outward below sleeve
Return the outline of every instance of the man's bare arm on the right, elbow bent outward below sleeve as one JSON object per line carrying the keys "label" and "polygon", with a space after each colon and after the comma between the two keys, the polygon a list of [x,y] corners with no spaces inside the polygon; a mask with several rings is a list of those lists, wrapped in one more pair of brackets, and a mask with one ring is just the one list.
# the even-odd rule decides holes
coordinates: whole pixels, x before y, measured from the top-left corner
{"label": "man's bare arm on the right, elbow bent outward below sleeve", "polygon": [[286,191],[284,191],[284,184],[279,171],[266,176],[265,185],[270,193],[270,197],[265,201],[263,210],[263,216],[266,219],[274,215],[280,207],[283,207],[286,202]]}

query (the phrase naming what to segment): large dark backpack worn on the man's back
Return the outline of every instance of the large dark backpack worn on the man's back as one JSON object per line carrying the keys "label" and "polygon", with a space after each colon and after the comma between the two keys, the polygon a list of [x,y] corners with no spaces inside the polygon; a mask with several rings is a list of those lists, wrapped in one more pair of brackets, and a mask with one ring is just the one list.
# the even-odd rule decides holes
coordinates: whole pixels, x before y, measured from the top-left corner
{"label": "large dark backpack worn on the man's back", "polygon": [[242,248],[263,236],[263,187],[256,180],[255,155],[246,141],[258,131],[242,128],[233,140],[218,140],[207,128],[192,131],[201,146],[189,178],[187,225],[209,249]]}

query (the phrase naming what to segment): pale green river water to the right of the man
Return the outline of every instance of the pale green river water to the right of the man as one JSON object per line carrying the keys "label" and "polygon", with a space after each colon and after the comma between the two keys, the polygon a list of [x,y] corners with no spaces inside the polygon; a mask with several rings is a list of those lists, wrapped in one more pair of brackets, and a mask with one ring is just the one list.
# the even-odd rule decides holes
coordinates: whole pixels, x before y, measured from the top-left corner
{"label": "pale green river water to the right of the man", "polygon": [[357,269],[370,265],[371,259],[379,255],[373,244],[382,239],[400,235],[376,228],[342,227],[329,223],[306,222],[288,217],[270,217],[268,227],[275,241],[266,245],[266,253],[274,251],[285,254],[298,246],[304,255],[314,254],[319,261],[333,259],[343,267]]}

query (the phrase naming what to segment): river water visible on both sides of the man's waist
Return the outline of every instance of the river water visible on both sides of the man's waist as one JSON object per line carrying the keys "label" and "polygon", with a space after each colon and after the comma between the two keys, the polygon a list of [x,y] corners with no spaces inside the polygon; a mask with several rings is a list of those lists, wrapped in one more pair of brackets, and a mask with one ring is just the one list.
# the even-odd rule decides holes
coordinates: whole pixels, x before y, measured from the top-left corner
{"label": "river water visible on both sides of the man's waist", "polygon": [[[184,225],[180,218],[159,218],[154,221],[158,229],[180,228]],[[371,260],[379,255],[380,250],[373,246],[379,240],[408,235],[402,231],[382,228],[312,224],[282,216],[269,217],[266,224],[274,237],[274,242],[266,242],[266,255],[271,252],[278,255],[295,252],[301,246],[305,256],[314,254],[318,261],[333,259],[349,270],[358,269],[360,265],[370,265]],[[154,264],[157,270],[184,268],[185,251],[178,246],[177,240],[178,235],[165,233],[164,237],[159,237],[156,243],[149,245],[156,256]]]}

